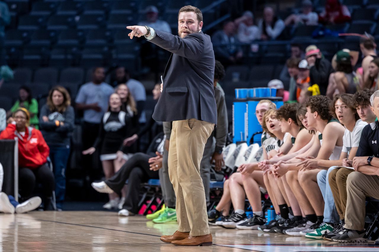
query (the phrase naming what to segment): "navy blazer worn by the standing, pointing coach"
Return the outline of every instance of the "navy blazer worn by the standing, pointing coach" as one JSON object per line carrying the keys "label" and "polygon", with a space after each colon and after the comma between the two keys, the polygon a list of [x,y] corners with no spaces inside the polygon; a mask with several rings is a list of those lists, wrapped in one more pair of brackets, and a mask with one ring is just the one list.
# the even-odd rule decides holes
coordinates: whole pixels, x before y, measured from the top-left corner
{"label": "navy blazer worn by the standing, pointing coach", "polygon": [[163,75],[163,92],[155,107],[155,121],[195,118],[217,124],[213,77],[215,54],[210,36],[202,31],[184,39],[155,30],[150,42],[172,52]]}

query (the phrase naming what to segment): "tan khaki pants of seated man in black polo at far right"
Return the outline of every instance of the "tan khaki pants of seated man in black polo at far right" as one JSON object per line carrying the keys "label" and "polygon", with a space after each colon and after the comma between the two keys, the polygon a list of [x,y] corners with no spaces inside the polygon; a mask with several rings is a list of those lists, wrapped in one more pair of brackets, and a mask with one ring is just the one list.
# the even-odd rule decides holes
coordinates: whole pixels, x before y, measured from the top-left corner
{"label": "tan khaki pants of seated man in black polo at far right", "polygon": [[363,230],[365,227],[366,196],[379,199],[379,176],[370,176],[353,171],[346,181],[348,201],[345,213],[345,228]]}

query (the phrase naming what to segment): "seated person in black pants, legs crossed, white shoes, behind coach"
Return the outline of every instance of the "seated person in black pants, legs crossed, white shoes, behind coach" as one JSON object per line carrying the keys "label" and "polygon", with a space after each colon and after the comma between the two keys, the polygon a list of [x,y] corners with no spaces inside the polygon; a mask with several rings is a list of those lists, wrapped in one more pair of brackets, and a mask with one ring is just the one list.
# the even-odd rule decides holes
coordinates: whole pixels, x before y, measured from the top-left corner
{"label": "seated person in black pants, legs crossed, white shoes, behind coach", "polygon": [[157,154],[163,153],[164,141],[165,136],[161,132],[150,143],[146,154],[141,152],[134,154],[110,179],[92,183],[92,187],[100,193],[117,193],[120,195],[122,187],[124,187],[126,180],[128,180],[128,192],[125,203],[118,212],[120,216],[137,214],[141,183],[147,182],[149,179],[159,178],[158,171],[151,167],[158,166],[155,168],[160,168],[159,165],[162,163],[162,158],[159,155],[157,156]]}

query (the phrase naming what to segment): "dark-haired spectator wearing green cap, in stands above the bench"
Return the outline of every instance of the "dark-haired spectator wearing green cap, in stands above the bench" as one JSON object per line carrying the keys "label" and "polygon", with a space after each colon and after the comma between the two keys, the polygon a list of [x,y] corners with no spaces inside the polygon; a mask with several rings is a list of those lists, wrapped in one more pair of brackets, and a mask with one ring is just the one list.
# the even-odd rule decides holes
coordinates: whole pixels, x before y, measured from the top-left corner
{"label": "dark-haired spectator wearing green cap, in stands above the bench", "polygon": [[326,95],[331,99],[339,93],[353,94],[357,92],[357,88],[359,87],[359,80],[353,71],[352,57],[349,52],[344,49],[338,51],[335,56],[336,72],[330,74],[329,86],[326,91]]}

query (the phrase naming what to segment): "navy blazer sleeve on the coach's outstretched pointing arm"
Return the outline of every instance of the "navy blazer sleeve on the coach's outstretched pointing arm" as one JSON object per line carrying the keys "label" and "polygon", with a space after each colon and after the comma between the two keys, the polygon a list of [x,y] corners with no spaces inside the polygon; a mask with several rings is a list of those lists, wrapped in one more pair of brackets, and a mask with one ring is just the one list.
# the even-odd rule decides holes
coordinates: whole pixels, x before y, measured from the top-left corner
{"label": "navy blazer sleeve on the coach's outstretched pointing arm", "polygon": [[171,33],[155,30],[155,37],[148,41],[171,53],[196,60],[202,57],[205,36],[200,33],[191,33],[182,39]]}

